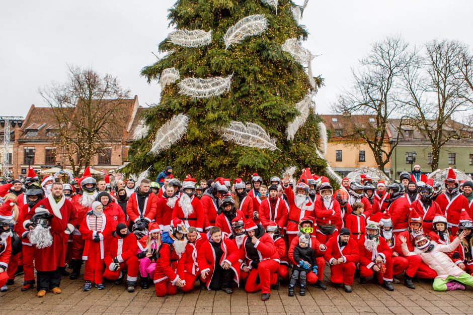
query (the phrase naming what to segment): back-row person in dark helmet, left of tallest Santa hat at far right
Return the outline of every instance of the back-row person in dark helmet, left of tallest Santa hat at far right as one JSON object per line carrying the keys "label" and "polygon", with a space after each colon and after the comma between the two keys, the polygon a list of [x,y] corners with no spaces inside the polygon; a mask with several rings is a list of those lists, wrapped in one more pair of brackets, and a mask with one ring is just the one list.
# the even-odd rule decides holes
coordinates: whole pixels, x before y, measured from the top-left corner
{"label": "back-row person in dark helmet, left of tallest Santa hat at far right", "polygon": [[415,208],[422,218],[422,229],[425,234],[432,232],[432,222],[435,216],[442,214],[440,206],[432,200],[434,194],[433,184],[434,180],[432,178],[427,180],[426,184],[419,189],[420,198],[411,204],[411,207]]}

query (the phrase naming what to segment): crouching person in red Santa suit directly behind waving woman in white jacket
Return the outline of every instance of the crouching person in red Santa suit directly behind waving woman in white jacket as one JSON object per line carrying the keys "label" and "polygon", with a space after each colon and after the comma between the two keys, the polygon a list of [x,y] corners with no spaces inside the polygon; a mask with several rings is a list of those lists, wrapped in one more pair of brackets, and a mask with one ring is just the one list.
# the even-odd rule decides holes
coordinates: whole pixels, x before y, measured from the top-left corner
{"label": "crouching person in red Santa suit directly behind waving woman in white jacket", "polygon": [[[406,231],[401,232],[397,235],[396,240],[395,240],[395,247],[393,249],[393,252],[399,255],[400,257],[408,258],[403,254],[403,250],[401,248],[402,242],[400,241],[400,237],[404,237],[408,240],[408,248],[409,250],[413,251],[415,247],[414,239],[417,235],[423,234],[422,230],[422,219],[417,213],[416,209],[411,208],[411,211],[409,213],[409,218],[408,218],[408,228]],[[408,258],[412,259],[412,258]],[[398,267],[398,270],[401,267]],[[417,258],[415,261],[409,260],[409,265],[406,267],[406,270],[409,269],[409,271],[406,271],[406,275],[410,275],[410,280],[414,278],[412,275],[413,273],[415,274],[416,277],[419,278],[424,278],[424,279],[433,279],[437,276],[437,273],[430,268],[427,264],[425,264],[423,261],[420,263],[417,262]],[[408,285],[406,285],[408,286]],[[410,286],[408,286],[410,287]]]}

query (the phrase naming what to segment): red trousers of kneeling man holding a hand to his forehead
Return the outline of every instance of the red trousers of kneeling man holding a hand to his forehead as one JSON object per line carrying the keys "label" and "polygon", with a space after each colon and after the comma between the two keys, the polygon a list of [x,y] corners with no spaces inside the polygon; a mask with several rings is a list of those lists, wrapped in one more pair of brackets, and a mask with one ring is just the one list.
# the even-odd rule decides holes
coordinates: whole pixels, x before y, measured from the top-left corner
{"label": "red trousers of kneeling man holding a hand to his forehead", "polygon": [[[258,269],[253,268],[248,275],[245,291],[256,292],[261,289],[261,293],[271,293],[270,287],[277,282],[277,271],[279,263],[272,259],[265,259],[258,263]],[[256,277],[260,276],[260,283],[256,284]]]}

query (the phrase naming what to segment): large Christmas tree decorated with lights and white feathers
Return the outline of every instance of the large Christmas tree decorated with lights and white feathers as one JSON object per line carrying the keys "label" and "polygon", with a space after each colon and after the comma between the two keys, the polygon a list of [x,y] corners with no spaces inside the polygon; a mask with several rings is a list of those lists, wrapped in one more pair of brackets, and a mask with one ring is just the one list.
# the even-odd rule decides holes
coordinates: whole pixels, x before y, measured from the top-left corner
{"label": "large Christmas tree decorated with lights and white feathers", "polygon": [[290,0],[179,0],[165,57],[142,75],[162,86],[125,171],[172,165],[182,178],[263,178],[288,166],[324,173],[304,6]]}

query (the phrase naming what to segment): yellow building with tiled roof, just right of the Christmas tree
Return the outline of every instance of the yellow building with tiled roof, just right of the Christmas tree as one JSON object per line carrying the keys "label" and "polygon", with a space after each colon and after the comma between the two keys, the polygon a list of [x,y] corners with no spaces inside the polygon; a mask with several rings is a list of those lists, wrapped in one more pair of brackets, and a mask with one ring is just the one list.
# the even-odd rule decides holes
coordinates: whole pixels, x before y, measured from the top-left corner
{"label": "yellow building with tiled roof, just right of the Christmas tree", "polygon": [[[359,167],[375,167],[378,165],[374,159],[373,151],[361,138],[359,140],[353,135],[353,126],[369,129],[374,126],[375,119],[369,115],[320,115],[327,128],[328,143],[324,154],[332,168],[342,175],[346,175]],[[389,152],[389,134],[384,141],[385,151]],[[386,173],[391,171],[389,161],[384,169]]]}

